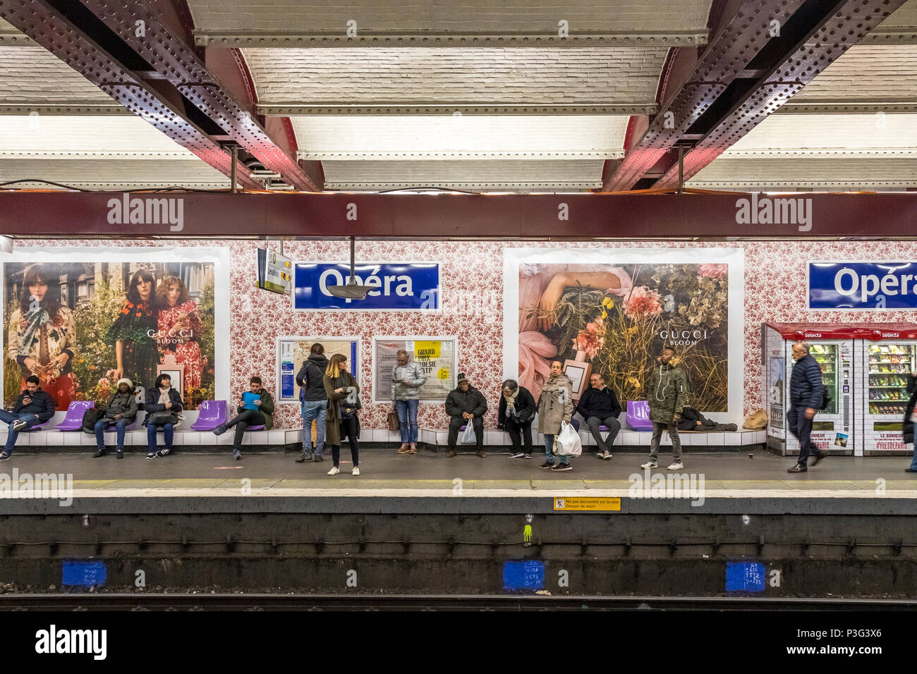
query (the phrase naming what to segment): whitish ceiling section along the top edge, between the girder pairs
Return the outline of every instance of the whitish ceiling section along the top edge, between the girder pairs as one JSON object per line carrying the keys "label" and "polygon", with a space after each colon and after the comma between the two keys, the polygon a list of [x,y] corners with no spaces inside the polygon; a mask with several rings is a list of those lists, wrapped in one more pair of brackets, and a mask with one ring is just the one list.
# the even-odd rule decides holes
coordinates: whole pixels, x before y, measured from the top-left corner
{"label": "whitish ceiling section along the top edge, between the girder pairs", "polygon": [[580,31],[706,32],[710,0],[190,0],[194,26],[203,31],[299,31],[344,34],[390,32],[557,34],[558,21]]}

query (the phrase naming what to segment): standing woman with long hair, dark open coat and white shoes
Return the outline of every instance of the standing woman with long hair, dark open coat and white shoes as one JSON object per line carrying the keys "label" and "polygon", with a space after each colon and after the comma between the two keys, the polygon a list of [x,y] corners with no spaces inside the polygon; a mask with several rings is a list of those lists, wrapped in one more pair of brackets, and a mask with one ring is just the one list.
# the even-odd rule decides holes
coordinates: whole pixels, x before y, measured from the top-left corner
{"label": "standing woman with long hair, dark open coat and white shoes", "polygon": [[347,357],[339,353],[332,356],[322,381],[328,395],[325,443],[331,446],[331,460],[335,464],[328,470],[328,475],[337,475],[340,472],[338,463],[341,457],[341,440],[344,437],[350,440],[350,459],[353,460],[353,469],[350,472],[359,475],[359,385],[347,370]]}

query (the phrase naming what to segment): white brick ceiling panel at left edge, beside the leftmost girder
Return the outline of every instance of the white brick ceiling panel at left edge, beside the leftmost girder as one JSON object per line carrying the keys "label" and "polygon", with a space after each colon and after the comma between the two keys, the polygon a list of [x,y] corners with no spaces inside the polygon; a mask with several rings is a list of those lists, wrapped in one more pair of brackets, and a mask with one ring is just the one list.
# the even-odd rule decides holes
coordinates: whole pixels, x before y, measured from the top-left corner
{"label": "white brick ceiling panel at left edge, beside the leftmost girder", "polygon": [[79,72],[37,45],[0,46],[0,105],[116,105]]}

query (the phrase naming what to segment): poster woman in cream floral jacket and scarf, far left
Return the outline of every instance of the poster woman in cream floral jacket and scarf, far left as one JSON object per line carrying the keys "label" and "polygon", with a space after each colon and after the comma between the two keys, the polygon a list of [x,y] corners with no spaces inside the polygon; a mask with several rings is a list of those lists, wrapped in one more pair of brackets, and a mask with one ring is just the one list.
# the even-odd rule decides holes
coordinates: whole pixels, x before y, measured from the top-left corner
{"label": "poster woman in cream floral jacket and scarf, far left", "polygon": [[60,274],[50,267],[33,265],[22,280],[19,306],[10,316],[6,331],[9,358],[19,365],[21,388],[35,375],[41,390],[65,410],[75,395],[72,373],[76,350],[76,322],[73,312],[61,306]]}

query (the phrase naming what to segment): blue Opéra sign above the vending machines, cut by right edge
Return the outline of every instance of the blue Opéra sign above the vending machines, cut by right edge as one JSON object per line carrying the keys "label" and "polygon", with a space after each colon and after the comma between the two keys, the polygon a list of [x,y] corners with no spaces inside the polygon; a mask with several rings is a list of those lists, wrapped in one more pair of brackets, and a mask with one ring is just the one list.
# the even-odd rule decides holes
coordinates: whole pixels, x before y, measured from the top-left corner
{"label": "blue Op\u00e9ra sign above the vending machines, cut by right edge", "polygon": [[917,309],[917,262],[809,262],[810,309]]}

